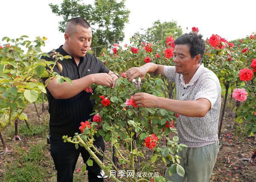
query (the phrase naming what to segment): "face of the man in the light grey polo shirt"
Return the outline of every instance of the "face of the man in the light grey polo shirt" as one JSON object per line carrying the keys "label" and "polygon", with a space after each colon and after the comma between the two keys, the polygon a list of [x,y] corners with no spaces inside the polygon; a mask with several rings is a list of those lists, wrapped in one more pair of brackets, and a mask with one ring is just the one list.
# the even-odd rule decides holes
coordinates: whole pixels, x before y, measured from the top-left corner
{"label": "face of the man in the light grey polo shirt", "polygon": [[198,63],[196,61],[196,57],[191,57],[189,46],[186,44],[179,44],[175,46],[173,62],[175,65],[175,71],[183,75],[190,74],[195,70],[195,65]]}

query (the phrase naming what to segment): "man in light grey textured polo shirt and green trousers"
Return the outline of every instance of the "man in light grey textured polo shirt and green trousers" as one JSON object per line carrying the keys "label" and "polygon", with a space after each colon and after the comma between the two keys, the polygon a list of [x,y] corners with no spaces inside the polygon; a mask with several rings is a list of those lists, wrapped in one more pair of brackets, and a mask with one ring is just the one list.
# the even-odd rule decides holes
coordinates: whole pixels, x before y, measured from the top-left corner
{"label": "man in light grey textured polo shirt and green trousers", "polygon": [[173,61],[175,66],[146,63],[130,68],[126,74],[131,81],[145,77],[146,73],[161,74],[175,82],[176,100],[137,93],[134,101],[138,107],[163,108],[180,116],[177,119],[179,142],[188,146],[178,154],[185,175],[169,175],[173,182],[209,181],[219,151],[218,119],[221,109],[221,86],[218,77],[201,63],[205,42],[201,35],[183,34],[175,40]]}

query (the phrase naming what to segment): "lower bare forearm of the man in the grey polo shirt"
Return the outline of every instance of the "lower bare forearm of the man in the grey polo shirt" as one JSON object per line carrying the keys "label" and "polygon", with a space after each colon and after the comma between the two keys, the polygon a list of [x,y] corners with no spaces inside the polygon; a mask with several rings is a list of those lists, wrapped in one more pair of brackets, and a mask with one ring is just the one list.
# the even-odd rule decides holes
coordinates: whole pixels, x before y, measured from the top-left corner
{"label": "lower bare forearm of the man in the grey polo shirt", "polygon": [[201,100],[173,100],[163,97],[156,98],[157,108],[166,109],[187,117],[204,117],[209,111],[209,106]]}

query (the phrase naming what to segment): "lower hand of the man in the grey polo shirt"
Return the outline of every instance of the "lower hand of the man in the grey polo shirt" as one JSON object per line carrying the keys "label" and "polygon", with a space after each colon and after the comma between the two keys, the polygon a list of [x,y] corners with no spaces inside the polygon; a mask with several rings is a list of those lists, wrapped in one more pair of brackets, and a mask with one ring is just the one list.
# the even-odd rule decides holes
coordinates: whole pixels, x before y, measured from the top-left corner
{"label": "lower hand of the man in the grey polo shirt", "polygon": [[136,93],[134,102],[138,107],[155,108],[157,107],[157,97],[147,93]]}

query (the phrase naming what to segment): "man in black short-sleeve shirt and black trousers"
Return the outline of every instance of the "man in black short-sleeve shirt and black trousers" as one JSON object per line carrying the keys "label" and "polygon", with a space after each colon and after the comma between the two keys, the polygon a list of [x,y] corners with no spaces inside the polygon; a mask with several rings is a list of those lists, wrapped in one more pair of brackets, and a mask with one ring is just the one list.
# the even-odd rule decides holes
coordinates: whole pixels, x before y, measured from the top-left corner
{"label": "man in black short-sleeve shirt and black trousers", "polygon": [[[69,77],[72,84],[59,84],[56,79],[52,79],[47,85],[49,140],[50,153],[57,170],[57,181],[72,182],[79,154],[81,153],[84,162],[87,162],[90,154],[81,146],[76,149],[74,144],[64,143],[62,136],[73,137],[76,132],[80,133],[80,122],[91,118],[95,102],[90,100],[91,93],[84,91],[84,88],[93,83],[111,87],[118,77],[98,58],[87,53],[91,45],[92,31],[86,20],[79,17],[69,20],[64,37],[64,45],[56,49],[56,52],[63,56],[70,55],[72,59],[59,61],[61,66],[56,65],[54,71]],[[52,60],[47,57],[44,59]],[[48,81],[46,79],[43,79],[45,84]],[[94,145],[103,151],[105,149],[102,137],[95,137]],[[99,158],[103,159],[101,156]],[[87,170],[89,182],[103,182],[102,178],[97,177],[101,168],[96,162],[93,162],[93,166],[87,166]]]}

